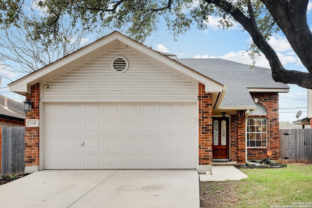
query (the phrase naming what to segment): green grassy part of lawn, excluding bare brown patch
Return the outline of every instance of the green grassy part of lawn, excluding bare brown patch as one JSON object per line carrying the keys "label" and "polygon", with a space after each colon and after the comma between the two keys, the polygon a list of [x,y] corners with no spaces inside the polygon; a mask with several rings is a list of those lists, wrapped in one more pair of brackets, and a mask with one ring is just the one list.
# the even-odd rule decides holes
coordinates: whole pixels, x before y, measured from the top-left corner
{"label": "green grassy part of lawn, excluding bare brown patch", "polygon": [[311,165],[241,171],[249,177],[236,184],[238,206],[235,207],[267,208],[312,202]]}

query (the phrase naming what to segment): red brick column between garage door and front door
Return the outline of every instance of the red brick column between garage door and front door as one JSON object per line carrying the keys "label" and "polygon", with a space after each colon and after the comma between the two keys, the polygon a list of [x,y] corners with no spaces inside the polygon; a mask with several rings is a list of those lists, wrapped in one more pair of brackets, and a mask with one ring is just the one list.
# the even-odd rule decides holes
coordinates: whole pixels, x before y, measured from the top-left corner
{"label": "red brick column between garage door and front door", "polygon": [[212,95],[199,83],[199,165],[212,165]]}

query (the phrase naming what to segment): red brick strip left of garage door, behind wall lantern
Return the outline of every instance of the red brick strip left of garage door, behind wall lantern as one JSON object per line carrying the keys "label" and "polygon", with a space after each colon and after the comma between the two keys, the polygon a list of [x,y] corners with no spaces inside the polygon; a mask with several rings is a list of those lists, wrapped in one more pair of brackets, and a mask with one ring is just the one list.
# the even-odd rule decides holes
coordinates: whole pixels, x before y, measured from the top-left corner
{"label": "red brick strip left of garage door, behind wall lantern", "polygon": [[[33,102],[26,119],[39,119],[39,89],[39,83],[32,85],[31,94],[26,96]],[[25,127],[25,166],[39,166],[39,127]]]}

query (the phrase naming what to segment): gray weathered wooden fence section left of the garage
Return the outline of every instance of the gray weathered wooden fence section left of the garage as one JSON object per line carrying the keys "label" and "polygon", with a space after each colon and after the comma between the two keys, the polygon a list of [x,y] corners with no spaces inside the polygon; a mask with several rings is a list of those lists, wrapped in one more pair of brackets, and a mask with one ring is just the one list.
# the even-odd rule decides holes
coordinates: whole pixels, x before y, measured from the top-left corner
{"label": "gray weathered wooden fence section left of the garage", "polygon": [[23,174],[25,127],[0,127],[0,175]]}

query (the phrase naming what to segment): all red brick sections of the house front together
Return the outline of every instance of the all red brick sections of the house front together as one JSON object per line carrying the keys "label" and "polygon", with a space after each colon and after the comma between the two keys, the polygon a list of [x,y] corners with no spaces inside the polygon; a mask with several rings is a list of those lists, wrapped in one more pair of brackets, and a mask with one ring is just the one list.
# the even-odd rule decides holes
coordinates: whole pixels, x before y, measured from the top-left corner
{"label": "all red brick sections of the house front together", "polygon": [[[26,96],[34,103],[31,112],[26,113],[26,119],[39,119],[39,83],[31,86],[31,94]],[[251,93],[258,103],[265,106],[268,115],[267,147],[247,148],[248,160],[268,158],[267,151],[272,151],[271,159],[279,157],[279,124],[278,124],[278,93]],[[213,144],[213,106],[212,94],[205,92],[205,85],[199,83],[198,92],[198,154],[199,165],[212,165]],[[253,116],[250,116],[253,117]],[[256,116],[259,117],[259,116]],[[230,160],[245,163],[246,157],[246,110],[236,111],[231,115]],[[26,127],[25,133],[25,163],[26,166],[39,166],[39,127]]]}

